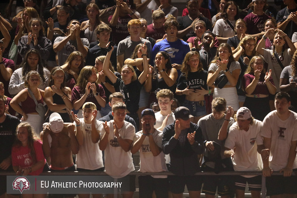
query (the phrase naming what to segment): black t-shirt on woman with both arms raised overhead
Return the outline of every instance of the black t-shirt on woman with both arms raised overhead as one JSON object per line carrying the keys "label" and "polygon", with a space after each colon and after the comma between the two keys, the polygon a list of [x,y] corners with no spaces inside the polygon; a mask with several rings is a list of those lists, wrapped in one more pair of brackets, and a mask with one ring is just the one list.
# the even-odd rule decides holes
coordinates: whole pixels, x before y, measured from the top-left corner
{"label": "black t-shirt on woman with both arms raised overhead", "polygon": [[120,92],[124,97],[127,110],[134,114],[139,109],[139,98],[142,84],[138,80],[132,81],[130,84],[124,84],[121,78],[114,83],[116,92]]}

